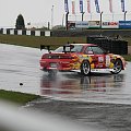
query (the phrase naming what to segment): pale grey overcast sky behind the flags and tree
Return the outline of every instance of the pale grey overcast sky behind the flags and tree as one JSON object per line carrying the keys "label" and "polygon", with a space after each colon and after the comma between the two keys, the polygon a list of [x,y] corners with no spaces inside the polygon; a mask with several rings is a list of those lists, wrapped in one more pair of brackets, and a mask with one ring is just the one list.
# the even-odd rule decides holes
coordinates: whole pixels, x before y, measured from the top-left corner
{"label": "pale grey overcast sky behind the flags and tree", "polygon": [[[69,10],[71,12],[71,1],[69,0]],[[75,20],[81,20],[79,0],[75,1]],[[84,12],[86,12],[86,0],[84,1]],[[131,0],[126,1],[127,19],[131,20]],[[96,14],[94,0],[91,0],[92,7],[92,20],[97,20],[99,17]],[[121,12],[120,0],[112,0],[114,7],[112,10],[117,14],[116,16],[122,19],[123,13]],[[51,11],[53,5],[53,11]],[[116,16],[112,16],[109,13],[109,2],[108,0],[99,0],[100,11],[104,12],[104,20],[111,21],[117,20]],[[25,21],[25,25],[31,22],[33,24],[44,24],[47,26],[47,23],[50,22],[53,25],[61,25],[64,22],[64,0],[0,0],[0,26],[15,26],[15,21],[19,14],[22,14]],[[51,13],[53,15],[51,15]],[[110,15],[110,17],[108,15]],[[70,13],[71,15],[71,13]],[[84,14],[84,20],[90,20],[91,15],[88,13]],[[71,20],[72,16],[69,16]],[[74,19],[74,16],[73,16]]]}

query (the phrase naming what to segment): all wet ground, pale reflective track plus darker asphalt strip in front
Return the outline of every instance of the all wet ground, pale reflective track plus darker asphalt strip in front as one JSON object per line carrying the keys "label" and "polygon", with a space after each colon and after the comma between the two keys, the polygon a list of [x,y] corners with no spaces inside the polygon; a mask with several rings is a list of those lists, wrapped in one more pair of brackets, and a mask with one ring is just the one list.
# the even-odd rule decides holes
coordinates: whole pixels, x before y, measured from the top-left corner
{"label": "all wet ground, pale reflective track plus darker asphalt strip in front", "polygon": [[[44,50],[43,50],[44,52]],[[46,96],[29,108],[57,112],[106,131],[131,130],[131,62],[120,74],[50,76],[39,70],[39,49],[0,45],[0,88]],[[23,85],[20,85],[23,83]]]}

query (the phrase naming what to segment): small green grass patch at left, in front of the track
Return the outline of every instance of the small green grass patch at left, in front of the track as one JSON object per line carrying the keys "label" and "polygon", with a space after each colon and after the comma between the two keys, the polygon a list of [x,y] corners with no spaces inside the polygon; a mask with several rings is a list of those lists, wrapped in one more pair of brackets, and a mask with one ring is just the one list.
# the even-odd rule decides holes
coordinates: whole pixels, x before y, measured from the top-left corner
{"label": "small green grass patch at left, in front of the track", "polygon": [[26,103],[39,97],[40,96],[38,95],[0,90],[0,99],[13,102],[19,105],[25,105]]}

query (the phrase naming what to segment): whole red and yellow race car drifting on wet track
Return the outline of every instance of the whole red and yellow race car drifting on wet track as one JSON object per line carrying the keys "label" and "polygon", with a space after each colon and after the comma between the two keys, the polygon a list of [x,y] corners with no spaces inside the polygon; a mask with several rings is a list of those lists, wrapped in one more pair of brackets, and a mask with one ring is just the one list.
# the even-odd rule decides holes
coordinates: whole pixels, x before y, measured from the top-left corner
{"label": "whole red and yellow race car drifting on wet track", "polygon": [[[109,53],[95,44],[67,44],[44,53],[39,60],[40,69],[48,73],[73,71],[83,75],[91,72],[111,72],[118,74],[126,69],[126,60],[120,55]],[[45,48],[45,46],[41,46]]]}

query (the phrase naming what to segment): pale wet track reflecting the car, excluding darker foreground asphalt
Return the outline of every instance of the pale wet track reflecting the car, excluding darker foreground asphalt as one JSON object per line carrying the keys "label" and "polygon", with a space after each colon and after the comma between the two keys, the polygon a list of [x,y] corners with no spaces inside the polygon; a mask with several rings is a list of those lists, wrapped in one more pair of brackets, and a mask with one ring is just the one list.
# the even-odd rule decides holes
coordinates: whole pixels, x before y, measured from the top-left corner
{"label": "pale wet track reflecting the car, excluding darker foreground asphalt", "polygon": [[[0,45],[0,88],[33,93],[55,99],[131,104],[131,63],[120,74],[58,73],[39,70],[39,49]],[[21,86],[20,83],[23,83]]]}

